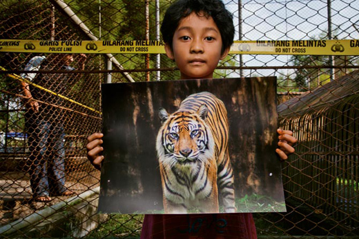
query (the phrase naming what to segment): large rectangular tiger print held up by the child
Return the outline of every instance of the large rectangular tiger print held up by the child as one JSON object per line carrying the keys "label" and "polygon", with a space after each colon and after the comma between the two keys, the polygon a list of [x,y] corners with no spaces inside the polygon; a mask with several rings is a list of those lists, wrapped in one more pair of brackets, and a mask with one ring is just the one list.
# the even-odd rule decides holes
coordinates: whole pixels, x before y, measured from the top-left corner
{"label": "large rectangular tiger print held up by the child", "polygon": [[98,211],[285,211],[276,81],[102,84]]}

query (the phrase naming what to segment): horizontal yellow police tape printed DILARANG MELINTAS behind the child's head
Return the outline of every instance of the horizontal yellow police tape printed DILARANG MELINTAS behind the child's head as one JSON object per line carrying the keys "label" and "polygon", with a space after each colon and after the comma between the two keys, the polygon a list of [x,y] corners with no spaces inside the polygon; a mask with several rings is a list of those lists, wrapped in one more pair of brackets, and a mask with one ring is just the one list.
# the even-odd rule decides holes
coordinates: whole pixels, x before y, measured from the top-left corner
{"label": "horizontal yellow police tape printed DILARANG MELINTAS behind the child's head", "polygon": [[[163,54],[163,41],[0,40],[0,52]],[[235,41],[230,54],[359,55],[359,40]]]}

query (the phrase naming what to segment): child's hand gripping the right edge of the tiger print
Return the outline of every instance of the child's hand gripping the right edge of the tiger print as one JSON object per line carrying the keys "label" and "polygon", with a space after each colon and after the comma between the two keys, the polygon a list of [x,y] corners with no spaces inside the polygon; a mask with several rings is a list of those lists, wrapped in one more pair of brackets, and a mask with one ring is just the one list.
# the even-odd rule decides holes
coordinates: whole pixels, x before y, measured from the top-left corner
{"label": "child's hand gripping the right edge of the tiger print", "polygon": [[288,155],[295,151],[292,146],[297,142],[297,139],[293,137],[293,132],[290,130],[277,129],[277,132],[279,134],[279,149],[275,149],[275,152],[282,160],[287,160]]}

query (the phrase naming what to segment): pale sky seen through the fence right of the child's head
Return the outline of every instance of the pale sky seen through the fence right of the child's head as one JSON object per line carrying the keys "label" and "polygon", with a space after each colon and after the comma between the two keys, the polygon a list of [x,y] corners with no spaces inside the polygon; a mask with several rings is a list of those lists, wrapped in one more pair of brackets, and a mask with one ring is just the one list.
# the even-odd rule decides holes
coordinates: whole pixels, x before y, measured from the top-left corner
{"label": "pale sky seen through the fence right of the child's head", "polygon": [[[224,0],[226,8],[233,13],[238,27],[236,1]],[[327,0],[270,1],[242,0],[243,40],[302,40],[318,38],[327,32]],[[332,0],[331,28],[338,39],[359,39],[359,1]],[[338,34],[338,35],[337,35]],[[236,32],[235,40],[238,40]],[[325,37],[325,39],[328,39]],[[286,65],[290,56],[244,55],[246,66]],[[263,75],[273,75],[273,70],[261,70]],[[249,74],[249,72],[246,72]]]}

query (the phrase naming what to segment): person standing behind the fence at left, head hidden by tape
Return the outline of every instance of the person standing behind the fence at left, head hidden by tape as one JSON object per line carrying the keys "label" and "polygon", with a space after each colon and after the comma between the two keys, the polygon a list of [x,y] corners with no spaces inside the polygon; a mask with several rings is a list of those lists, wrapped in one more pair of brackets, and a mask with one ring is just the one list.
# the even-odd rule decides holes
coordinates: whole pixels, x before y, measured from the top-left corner
{"label": "person standing behind the fence at left, head hidden by tape", "polygon": [[[79,70],[84,70],[86,55],[80,54]],[[75,70],[70,65],[72,54],[50,54],[35,56],[24,70],[45,70],[64,72]],[[49,202],[50,196],[70,196],[65,187],[64,147],[64,94],[75,83],[75,74],[27,73],[22,75],[32,83],[21,84],[27,97],[26,129],[30,150],[30,184],[32,197],[38,202]]]}

